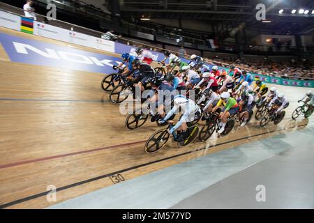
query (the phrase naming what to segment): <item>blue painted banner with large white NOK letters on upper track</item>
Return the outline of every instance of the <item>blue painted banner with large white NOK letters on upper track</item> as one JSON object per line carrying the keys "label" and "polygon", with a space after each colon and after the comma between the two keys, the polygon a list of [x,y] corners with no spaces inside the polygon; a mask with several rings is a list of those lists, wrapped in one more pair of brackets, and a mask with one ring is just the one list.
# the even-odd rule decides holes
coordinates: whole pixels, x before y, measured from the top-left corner
{"label": "blue painted banner with large white NOK letters on upper track", "polygon": [[0,33],[3,48],[11,61],[88,72],[110,73],[121,59],[72,47],[55,45]]}

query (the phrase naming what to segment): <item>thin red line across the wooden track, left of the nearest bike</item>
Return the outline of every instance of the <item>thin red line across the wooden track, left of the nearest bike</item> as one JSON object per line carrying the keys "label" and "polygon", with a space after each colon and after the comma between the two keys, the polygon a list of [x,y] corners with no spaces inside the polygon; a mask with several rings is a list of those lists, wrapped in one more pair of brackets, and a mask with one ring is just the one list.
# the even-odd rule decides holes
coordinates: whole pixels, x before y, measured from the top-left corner
{"label": "thin red line across the wooden track, left of the nearest bike", "polygon": [[11,162],[8,164],[3,164],[0,165],[0,169],[4,169],[4,168],[8,168],[8,167],[15,167],[15,166],[20,166],[23,164],[29,164],[29,163],[33,163],[33,162],[40,162],[40,161],[45,161],[45,160],[54,160],[54,159],[58,159],[61,157],[67,157],[70,155],[78,155],[78,154],[83,154],[83,153],[92,153],[95,151],[103,151],[109,148],[117,148],[120,146],[131,146],[131,145],[135,145],[135,144],[140,144],[145,142],[146,140],[142,140],[142,141],[133,141],[127,144],[119,144],[119,145],[112,145],[112,146],[105,146],[105,147],[101,147],[101,148],[93,148],[87,151],[80,151],[80,152],[75,152],[75,153],[65,153],[65,154],[61,154],[61,155],[54,155],[54,156],[48,156],[48,157],[42,157],[42,158],[38,158],[38,159],[34,159],[34,160],[24,160],[24,161],[20,161],[20,162]]}

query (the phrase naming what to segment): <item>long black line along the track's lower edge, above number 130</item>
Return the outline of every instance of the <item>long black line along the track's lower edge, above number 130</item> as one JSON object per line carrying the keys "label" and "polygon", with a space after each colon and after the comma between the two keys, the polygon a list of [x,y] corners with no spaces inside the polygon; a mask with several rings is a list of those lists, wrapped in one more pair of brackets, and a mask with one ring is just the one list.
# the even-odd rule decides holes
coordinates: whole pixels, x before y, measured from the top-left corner
{"label": "long black line along the track's lower edge, above number 130", "polygon": [[[308,125],[308,124],[304,124],[304,125]],[[297,125],[297,126],[301,127],[301,126],[304,126],[304,125]],[[243,140],[243,139],[249,139],[250,137],[257,137],[257,136],[260,136],[260,135],[263,135],[263,134],[269,134],[269,133],[273,133],[273,132],[280,132],[280,131],[282,131],[282,130],[284,130],[284,129],[281,129],[281,130],[272,130],[272,131],[269,131],[269,132],[262,132],[262,133],[259,133],[259,134],[254,134],[254,135],[251,135],[251,136],[249,136],[249,137],[242,137],[242,138],[239,138],[239,139],[233,139],[233,140],[230,140],[230,141],[222,142],[222,143],[220,143],[220,144],[216,144],[216,145],[209,146],[208,148],[212,148],[212,147],[215,147],[215,146],[221,146],[221,145],[224,145],[224,144],[230,144],[230,143],[232,143],[232,142],[234,142],[234,141],[240,141],[240,140]],[[163,162],[163,161],[165,161],[165,160],[170,160],[170,159],[172,159],[172,158],[180,157],[180,156],[182,156],[182,155],[187,155],[187,154],[189,154],[189,153],[199,152],[199,151],[202,151],[202,150],[204,150],[204,149],[207,149],[207,147],[205,146],[205,147],[203,147],[203,148],[197,148],[197,149],[195,149],[195,150],[193,150],[193,151],[188,151],[188,152],[185,152],[185,153],[179,153],[179,154],[177,154],[177,155],[172,155],[172,156],[170,156],[170,157],[165,157],[165,158],[160,159],[160,160],[155,160],[155,161],[147,162],[147,163],[140,164],[140,165],[137,165],[137,166],[134,166],[134,167],[128,167],[128,168],[126,168],[126,169],[121,169],[121,170],[119,170],[119,171],[114,171],[114,172],[112,172],[112,173],[110,173],[110,174],[103,174],[103,175],[101,175],[101,176],[97,176],[97,177],[94,177],[94,178],[89,178],[89,179],[87,179],[87,180],[82,180],[82,181],[77,182],[77,183],[73,183],[73,184],[70,184],[70,185],[66,185],[66,186],[63,186],[63,187],[59,187],[59,188],[57,188],[56,192],[61,191],[61,190],[66,190],[66,189],[68,189],[68,188],[70,188],[70,187],[76,187],[76,186],[82,185],[82,184],[84,184],[84,183],[90,183],[90,182],[95,181],[95,180],[100,180],[100,179],[106,178],[106,177],[108,177],[108,176],[112,176],[112,175],[116,175],[116,174],[121,174],[121,173],[123,173],[123,172],[130,171],[130,170],[132,170],[132,169],[137,169],[137,168],[140,168],[140,167],[148,166],[148,165],[150,165],[150,164],[155,164],[155,163],[157,163],[157,162]],[[7,208],[7,207],[9,207],[9,206],[13,206],[13,205],[15,205],[15,204],[17,204],[17,203],[22,203],[22,202],[29,201],[29,200],[32,200],[32,199],[36,199],[36,198],[38,198],[38,197],[46,196],[49,192],[50,192],[50,191],[41,192],[41,193],[39,193],[39,194],[34,194],[34,195],[29,196],[29,197],[24,197],[24,198],[18,199],[18,200],[16,200],[16,201],[11,201],[11,202],[9,202],[9,203],[1,204],[1,205],[0,205],[0,209]]]}

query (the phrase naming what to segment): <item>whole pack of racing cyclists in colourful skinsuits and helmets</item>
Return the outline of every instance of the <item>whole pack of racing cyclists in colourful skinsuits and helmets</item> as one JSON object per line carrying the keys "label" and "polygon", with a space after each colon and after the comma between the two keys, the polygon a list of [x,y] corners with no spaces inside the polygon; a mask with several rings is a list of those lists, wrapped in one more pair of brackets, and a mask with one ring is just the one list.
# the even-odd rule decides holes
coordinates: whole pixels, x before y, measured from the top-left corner
{"label": "whole pack of racing cyclists in colourful skinsuits and helmets", "polygon": [[[151,121],[163,124],[181,111],[177,124],[168,130],[170,134],[177,132],[175,141],[189,137],[188,123],[200,119],[207,121],[213,113],[219,114],[218,134],[222,134],[228,118],[235,114],[242,117],[241,126],[246,125],[255,105],[263,104],[276,115],[289,106],[287,97],[275,87],[269,89],[260,77],[253,77],[234,66],[229,70],[209,66],[201,56],[195,54],[186,63],[172,52],[166,51],[165,58],[158,61],[163,65],[163,72],[160,69],[156,71],[151,66],[153,55],[147,49],[137,47],[135,52],[137,56],[121,54],[123,62],[118,67],[125,66],[122,75],[132,82],[133,93],[135,89],[143,92],[150,86],[152,93],[145,100],[156,102],[156,112],[152,114]],[[160,91],[167,92],[168,95],[164,93],[160,96]],[[164,96],[169,100],[165,100]],[[313,108],[313,92],[308,91],[305,97],[305,102]],[[167,106],[171,109],[165,109]]]}

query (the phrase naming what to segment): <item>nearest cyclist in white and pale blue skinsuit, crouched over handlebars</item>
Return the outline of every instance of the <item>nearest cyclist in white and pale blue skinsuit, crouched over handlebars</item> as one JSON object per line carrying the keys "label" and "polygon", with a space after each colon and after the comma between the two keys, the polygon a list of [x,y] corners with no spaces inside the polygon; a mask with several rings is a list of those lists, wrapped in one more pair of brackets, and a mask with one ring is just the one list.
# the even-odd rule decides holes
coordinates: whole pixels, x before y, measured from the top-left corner
{"label": "nearest cyclist in white and pale blue skinsuit, crouched over handlebars", "polygon": [[170,118],[174,112],[177,112],[178,109],[181,109],[182,116],[178,123],[168,131],[170,134],[172,134],[175,130],[182,131],[181,134],[178,135],[177,139],[174,139],[175,141],[182,141],[189,137],[187,123],[199,118],[201,110],[200,107],[193,102],[193,100],[186,98],[184,95],[176,95],[174,97],[174,107],[172,107],[165,118],[160,119],[159,123],[165,123],[165,121],[167,121],[167,119]]}

